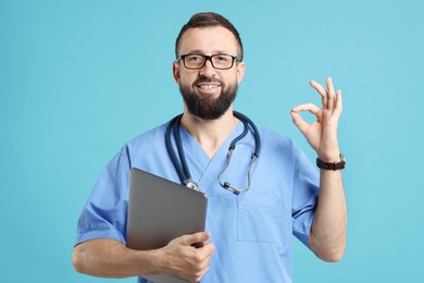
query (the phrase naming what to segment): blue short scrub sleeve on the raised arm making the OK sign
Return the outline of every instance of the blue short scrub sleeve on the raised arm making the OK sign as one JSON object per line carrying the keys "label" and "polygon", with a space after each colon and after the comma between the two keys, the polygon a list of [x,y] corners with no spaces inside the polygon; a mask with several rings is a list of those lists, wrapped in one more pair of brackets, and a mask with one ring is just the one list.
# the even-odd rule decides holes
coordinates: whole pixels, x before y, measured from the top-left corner
{"label": "blue short scrub sleeve on the raised arm making the OK sign", "polygon": [[295,169],[291,206],[292,233],[309,247],[309,233],[320,193],[320,175],[298,146],[294,146],[292,152]]}

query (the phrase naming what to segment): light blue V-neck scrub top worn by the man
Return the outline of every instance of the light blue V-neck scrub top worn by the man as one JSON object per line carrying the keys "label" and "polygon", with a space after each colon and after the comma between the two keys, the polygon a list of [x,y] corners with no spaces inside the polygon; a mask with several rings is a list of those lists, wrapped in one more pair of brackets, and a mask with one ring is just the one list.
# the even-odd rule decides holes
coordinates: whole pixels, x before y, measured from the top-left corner
{"label": "light blue V-neck scrub top worn by the man", "polygon": [[[112,238],[125,245],[128,176],[141,169],[179,183],[165,147],[166,124],[128,142],[100,175],[80,214],[77,244]],[[216,247],[201,282],[291,282],[291,239],[309,247],[309,232],[319,195],[319,173],[304,153],[284,135],[259,128],[262,147],[253,168],[250,190],[239,195],[223,189],[217,175],[228,147],[242,123],[210,159],[180,127],[182,144],[192,180],[208,195],[205,230]],[[175,140],[173,140],[174,150]],[[223,181],[245,188],[254,138],[250,131],[234,151]],[[177,152],[177,151],[175,151]],[[148,282],[138,278],[138,282]]]}

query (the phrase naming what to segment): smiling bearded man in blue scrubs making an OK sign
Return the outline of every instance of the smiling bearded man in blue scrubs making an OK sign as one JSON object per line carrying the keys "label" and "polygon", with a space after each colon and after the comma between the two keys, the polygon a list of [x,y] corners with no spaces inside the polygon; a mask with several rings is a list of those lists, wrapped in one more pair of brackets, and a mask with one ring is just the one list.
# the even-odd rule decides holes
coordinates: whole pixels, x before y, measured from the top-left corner
{"label": "smiling bearded man in blue scrubs making an OK sign", "polygon": [[[129,170],[179,182],[166,151],[164,124],[127,143],[100,176],[78,222],[73,253],[78,272],[105,278],[169,274],[191,282],[291,282],[292,234],[323,260],[341,258],[347,226],[339,170],[345,163],[337,140],[341,93],[331,78],[326,89],[311,82],[322,96],[321,109],[309,103],[291,110],[294,123],[325,168],[320,174],[289,138],[259,128],[262,147],[250,189],[236,195],[220,186],[228,146],[244,131],[233,114],[246,71],[242,56],[238,32],[215,13],[194,15],[176,41],[173,72],[185,102],[178,131],[191,177],[209,198],[207,232],[175,238],[155,250],[125,246]],[[305,123],[301,111],[312,112],[317,121]],[[250,130],[237,143],[225,175],[232,184],[246,186],[254,148]],[[203,247],[191,246],[199,242]]]}

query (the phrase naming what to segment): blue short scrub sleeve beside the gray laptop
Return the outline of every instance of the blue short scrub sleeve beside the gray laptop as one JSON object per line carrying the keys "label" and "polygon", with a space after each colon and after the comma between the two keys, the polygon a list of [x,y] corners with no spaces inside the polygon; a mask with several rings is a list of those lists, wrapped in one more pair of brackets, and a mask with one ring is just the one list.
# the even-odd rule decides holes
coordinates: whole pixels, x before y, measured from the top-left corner
{"label": "blue short scrub sleeve beside the gray laptop", "polygon": [[77,224],[76,244],[110,238],[125,244],[129,158],[123,148],[96,183]]}

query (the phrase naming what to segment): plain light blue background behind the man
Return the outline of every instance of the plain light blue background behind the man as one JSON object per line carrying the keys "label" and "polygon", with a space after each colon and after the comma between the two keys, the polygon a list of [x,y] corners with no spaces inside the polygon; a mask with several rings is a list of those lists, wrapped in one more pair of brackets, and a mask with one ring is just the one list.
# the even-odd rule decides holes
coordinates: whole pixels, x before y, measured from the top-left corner
{"label": "plain light blue background behind the man", "polygon": [[296,243],[295,282],[424,282],[419,0],[0,0],[0,282],[115,282],[73,270],[76,221],[121,146],[182,111],[174,40],[199,11],[241,34],[236,109],[311,160],[290,108],[320,103],[312,78],[342,89],[348,246],[333,264]]}

